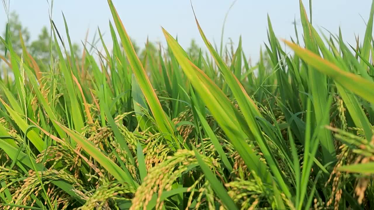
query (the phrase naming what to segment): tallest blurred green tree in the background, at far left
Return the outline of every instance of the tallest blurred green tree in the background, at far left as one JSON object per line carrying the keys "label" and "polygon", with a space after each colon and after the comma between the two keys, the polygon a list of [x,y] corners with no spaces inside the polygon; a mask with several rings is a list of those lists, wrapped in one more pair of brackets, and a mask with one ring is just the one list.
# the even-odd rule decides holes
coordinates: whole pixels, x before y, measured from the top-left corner
{"label": "tallest blurred green tree in the background, at far left", "polygon": [[[19,20],[18,14],[15,11],[13,11],[9,14],[8,34],[11,37],[10,41],[12,42],[13,50],[17,54],[22,53],[22,45],[21,45],[21,40],[19,38],[20,32],[22,34],[22,39],[24,40],[24,43],[27,46],[30,40],[30,33],[26,27],[22,26],[21,21]],[[5,33],[6,33],[6,30],[4,29],[3,38],[5,38],[6,36]],[[5,45],[3,43],[0,43],[0,49],[2,52],[4,52]]]}

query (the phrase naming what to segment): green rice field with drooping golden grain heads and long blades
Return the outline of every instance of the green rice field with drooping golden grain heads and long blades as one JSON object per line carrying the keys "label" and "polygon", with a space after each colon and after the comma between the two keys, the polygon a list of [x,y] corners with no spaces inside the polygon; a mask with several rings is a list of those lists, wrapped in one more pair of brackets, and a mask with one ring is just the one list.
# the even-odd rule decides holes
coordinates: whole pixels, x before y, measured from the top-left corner
{"label": "green rice field with drooping golden grain heads and long blades", "polygon": [[51,20],[40,66],[6,33],[0,209],[373,209],[374,1],[353,44],[299,4],[303,35],[278,39],[268,18],[254,66],[198,16],[208,52],[162,28],[167,46],[139,56],[111,0],[113,50],[98,31],[104,51],[77,58]]}

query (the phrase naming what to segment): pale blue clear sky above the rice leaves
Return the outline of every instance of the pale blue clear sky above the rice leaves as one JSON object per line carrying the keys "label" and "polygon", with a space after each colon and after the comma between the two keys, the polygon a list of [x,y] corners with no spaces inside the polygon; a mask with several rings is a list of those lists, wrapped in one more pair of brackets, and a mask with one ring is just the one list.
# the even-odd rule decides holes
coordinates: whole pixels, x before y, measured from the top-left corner
{"label": "pale blue clear sky above the rice leaves", "polygon": [[[194,22],[190,0],[113,0],[117,12],[129,35],[139,46],[149,36],[150,41],[165,43],[161,26],[172,35],[178,34],[178,40],[185,49],[195,39],[199,46],[203,42]],[[221,28],[227,9],[232,0],[192,0],[197,18],[208,39],[219,43]],[[365,33],[365,21],[370,13],[370,0],[313,0],[313,25],[324,27],[332,33],[342,28],[344,39],[354,44],[354,34],[360,37]],[[309,1],[304,0],[307,11]],[[31,34],[36,39],[43,25],[49,26],[49,5],[47,0],[10,0],[10,10],[15,10]],[[70,37],[73,42],[84,40],[89,29],[92,40],[97,27],[105,33],[106,43],[111,45],[108,21],[110,10],[105,0],[55,0],[53,20],[59,31],[64,31],[61,12],[67,19]],[[292,21],[294,17],[301,31],[298,0],[237,0],[227,18],[224,41],[232,38],[237,43],[242,35],[246,56],[258,59],[260,45],[267,42],[267,14],[278,38],[294,37]],[[361,16],[362,17],[361,17]],[[363,18],[363,19],[362,19]],[[5,28],[6,14],[0,9],[0,31]],[[64,35],[64,37],[66,37]]]}

